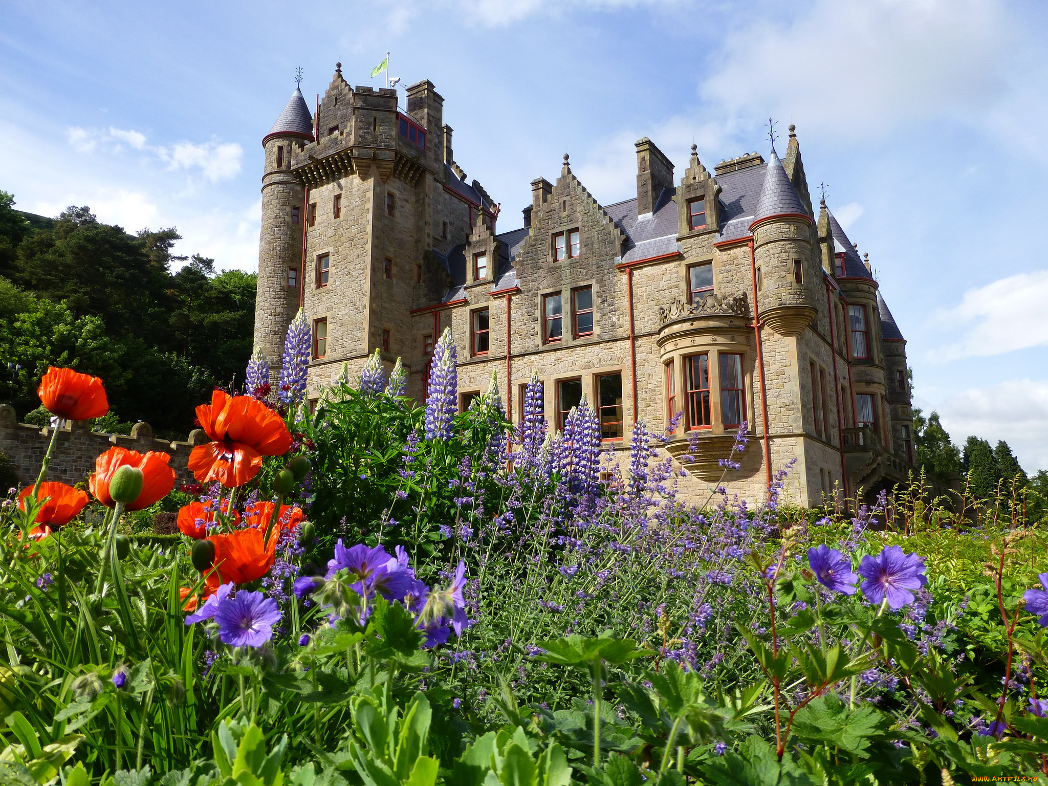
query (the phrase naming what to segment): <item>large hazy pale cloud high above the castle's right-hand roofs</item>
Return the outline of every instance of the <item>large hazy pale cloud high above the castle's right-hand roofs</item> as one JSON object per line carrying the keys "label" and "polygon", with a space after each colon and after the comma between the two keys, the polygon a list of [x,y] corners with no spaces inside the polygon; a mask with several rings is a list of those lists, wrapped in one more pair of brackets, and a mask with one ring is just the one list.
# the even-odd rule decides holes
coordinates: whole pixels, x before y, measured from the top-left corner
{"label": "large hazy pale cloud high above the castle's right-hand roofs", "polygon": [[846,138],[981,116],[1001,94],[1006,16],[997,0],[817,0],[789,22],[762,16],[728,35],[701,92],[730,113]]}

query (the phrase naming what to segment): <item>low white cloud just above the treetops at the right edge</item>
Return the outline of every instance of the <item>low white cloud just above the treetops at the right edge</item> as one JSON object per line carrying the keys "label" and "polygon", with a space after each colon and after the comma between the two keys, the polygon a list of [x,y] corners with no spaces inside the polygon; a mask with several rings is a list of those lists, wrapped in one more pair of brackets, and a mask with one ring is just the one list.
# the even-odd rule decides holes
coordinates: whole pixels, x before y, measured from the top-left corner
{"label": "low white cloud just above the treetops at the right edge", "polygon": [[965,390],[936,410],[956,444],[975,435],[990,444],[1003,439],[1023,468],[1048,468],[1048,380],[1009,379]]}

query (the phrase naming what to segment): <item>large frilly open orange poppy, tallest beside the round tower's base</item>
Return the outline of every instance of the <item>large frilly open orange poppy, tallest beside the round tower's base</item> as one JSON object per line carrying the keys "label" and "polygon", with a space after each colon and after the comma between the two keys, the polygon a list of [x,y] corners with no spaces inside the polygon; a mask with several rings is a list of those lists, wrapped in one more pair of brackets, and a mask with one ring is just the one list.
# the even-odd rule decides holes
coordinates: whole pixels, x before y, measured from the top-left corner
{"label": "large frilly open orange poppy, tallest beside the round tower's base", "polygon": [[282,456],[291,446],[284,420],[252,396],[216,390],[210,405],[197,407],[197,419],[213,440],[190,454],[190,470],[200,483],[243,485],[258,475],[263,456]]}

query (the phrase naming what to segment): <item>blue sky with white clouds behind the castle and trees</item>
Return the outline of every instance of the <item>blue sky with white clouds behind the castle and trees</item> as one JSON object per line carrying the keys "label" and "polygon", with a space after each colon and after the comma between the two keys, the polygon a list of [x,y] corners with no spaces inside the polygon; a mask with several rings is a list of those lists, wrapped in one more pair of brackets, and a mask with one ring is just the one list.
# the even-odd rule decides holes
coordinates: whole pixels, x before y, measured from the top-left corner
{"label": "blue sky with white clouds behind the castle and trees", "polygon": [[[1034,2],[389,0],[13,2],[0,27],[0,189],[87,204],[178,250],[255,269],[261,138],[387,50],[430,79],[455,157],[519,225],[561,156],[602,202],[635,191],[633,141],[712,169],[793,123],[809,185],[909,340],[915,403],[957,442],[1048,467],[1048,12]],[[401,93],[402,100],[402,93]]]}

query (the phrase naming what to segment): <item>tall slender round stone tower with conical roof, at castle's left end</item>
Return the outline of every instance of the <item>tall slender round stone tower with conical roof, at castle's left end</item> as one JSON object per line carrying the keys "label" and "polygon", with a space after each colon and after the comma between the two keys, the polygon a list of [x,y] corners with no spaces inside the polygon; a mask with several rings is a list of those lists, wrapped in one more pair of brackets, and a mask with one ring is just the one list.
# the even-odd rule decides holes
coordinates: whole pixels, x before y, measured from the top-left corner
{"label": "tall slender round stone tower with conical roof, at castle's left end", "polygon": [[302,292],[302,230],[308,216],[303,185],[291,174],[306,143],[313,141],[313,121],[296,88],[269,133],[262,138],[262,232],[259,241],[255,348],[279,366],[283,336],[294,318]]}

